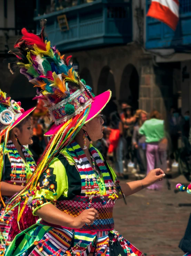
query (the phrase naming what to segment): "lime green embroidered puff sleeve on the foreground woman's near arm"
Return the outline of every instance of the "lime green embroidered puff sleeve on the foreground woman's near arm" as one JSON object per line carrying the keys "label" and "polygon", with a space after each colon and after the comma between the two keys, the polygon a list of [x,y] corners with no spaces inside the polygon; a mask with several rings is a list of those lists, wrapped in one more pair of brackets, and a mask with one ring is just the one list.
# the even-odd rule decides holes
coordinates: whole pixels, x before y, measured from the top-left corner
{"label": "lime green embroidered puff sleeve on the foreground woman's near arm", "polygon": [[56,204],[61,195],[67,196],[68,178],[66,169],[58,158],[54,158],[49,167],[41,174],[36,194],[32,197],[32,211],[35,212],[45,204]]}

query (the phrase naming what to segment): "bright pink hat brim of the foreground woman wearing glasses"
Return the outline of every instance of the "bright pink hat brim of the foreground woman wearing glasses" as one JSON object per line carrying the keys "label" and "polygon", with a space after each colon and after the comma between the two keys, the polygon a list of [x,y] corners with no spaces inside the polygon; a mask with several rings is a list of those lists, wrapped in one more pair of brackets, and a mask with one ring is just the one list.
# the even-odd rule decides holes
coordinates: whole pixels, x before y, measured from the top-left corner
{"label": "bright pink hat brim of the foreground woman wearing glasses", "polygon": [[[110,90],[105,91],[102,94],[99,94],[98,96],[96,96],[93,99],[94,101],[91,103],[90,112],[87,116],[85,123],[89,122],[95,116],[97,116],[103,110],[103,108],[107,105],[110,98],[111,98]],[[48,132],[44,134],[44,136],[53,136],[65,123],[66,122],[59,125],[53,124],[52,127],[48,130]]]}

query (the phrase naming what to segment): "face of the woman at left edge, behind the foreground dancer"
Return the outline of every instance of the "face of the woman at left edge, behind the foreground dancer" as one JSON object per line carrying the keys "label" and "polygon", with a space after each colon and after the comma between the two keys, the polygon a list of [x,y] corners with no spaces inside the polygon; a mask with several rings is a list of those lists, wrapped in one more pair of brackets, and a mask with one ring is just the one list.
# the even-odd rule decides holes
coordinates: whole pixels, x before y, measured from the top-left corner
{"label": "face of the woman at left edge, behind the foreground dancer", "polygon": [[19,129],[17,127],[13,128],[14,134],[18,136],[18,140],[21,143],[21,145],[30,145],[33,143],[32,141],[32,125],[31,120],[27,120],[26,123],[22,125],[22,128]]}

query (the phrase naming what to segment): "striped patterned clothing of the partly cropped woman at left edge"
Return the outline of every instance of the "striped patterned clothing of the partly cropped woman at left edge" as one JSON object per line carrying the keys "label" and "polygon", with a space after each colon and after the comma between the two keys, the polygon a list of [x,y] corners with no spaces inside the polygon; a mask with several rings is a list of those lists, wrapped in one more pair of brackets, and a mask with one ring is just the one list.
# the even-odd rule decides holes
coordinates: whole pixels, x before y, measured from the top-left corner
{"label": "striped patterned clothing of the partly cropped woman at left edge", "polygon": [[[11,176],[10,174],[7,174],[6,172],[8,170],[5,169],[1,171],[1,173],[3,173],[3,177],[1,177],[1,180],[3,180],[4,182],[24,186],[26,185],[26,182],[28,182],[28,180],[30,179],[36,167],[36,163],[34,162],[32,156],[30,155],[29,150],[26,147],[22,146],[22,151],[26,158],[26,162],[24,162],[24,160],[20,157],[12,141],[11,140],[8,141],[6,153],[8,156],[8,161],[11,169],[10,174],[14,173],[15,177]],[[4,168],[4,167],[6,167],[5,163],[1,168]],[[9,199],[10,199],[9,196],[4,196],[4,203],[7,204]],[[4,250],[6,246],[10,244],[10,241],[8,239],[8,233],[11,227],[11,224],[10,224],[11,213],[12,212],[9,212],[4,215],[4,208],[2,208],[0,211],[0,250]]]}

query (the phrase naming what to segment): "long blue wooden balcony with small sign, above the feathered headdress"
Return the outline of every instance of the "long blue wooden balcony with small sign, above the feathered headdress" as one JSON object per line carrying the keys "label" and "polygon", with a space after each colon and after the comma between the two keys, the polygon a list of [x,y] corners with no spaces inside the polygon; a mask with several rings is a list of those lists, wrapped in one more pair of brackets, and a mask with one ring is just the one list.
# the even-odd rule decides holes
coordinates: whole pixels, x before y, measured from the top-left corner
{"label": "long blue wooden balcony with small sign, above the feathered headdress", "polygon": [[[60,30],[57,19],[60,15],[66,15],[69,30]],[[42,18],[47,19],[48,39],[60,51],[132,41],[131,0],[95,0],[36,16],[37,32],[40,32],[39,20]]]}

